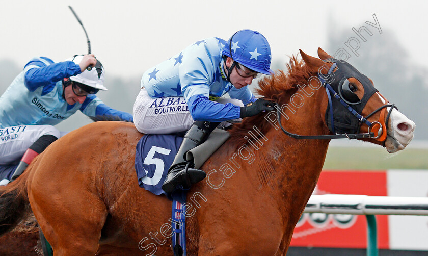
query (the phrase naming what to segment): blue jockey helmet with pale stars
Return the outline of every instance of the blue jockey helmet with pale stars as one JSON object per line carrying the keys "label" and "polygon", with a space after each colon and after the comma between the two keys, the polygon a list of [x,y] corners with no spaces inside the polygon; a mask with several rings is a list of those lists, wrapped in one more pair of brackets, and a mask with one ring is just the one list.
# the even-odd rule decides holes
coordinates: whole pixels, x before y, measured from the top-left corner
{"label": "blue jockey helmet with pale stars", "polygon": [[236,32],[223,48],[223,55],[262,74],[274,74],[271,69],[271,46],[268,40],[253,30]]}

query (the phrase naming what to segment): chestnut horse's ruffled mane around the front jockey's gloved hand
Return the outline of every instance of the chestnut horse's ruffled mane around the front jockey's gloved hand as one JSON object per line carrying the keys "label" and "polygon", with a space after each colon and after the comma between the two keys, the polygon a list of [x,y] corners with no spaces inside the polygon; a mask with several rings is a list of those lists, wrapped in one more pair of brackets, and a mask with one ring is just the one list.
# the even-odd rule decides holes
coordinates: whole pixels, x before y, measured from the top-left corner
{"label": "chestnut horse's ruffled mane around the front jockey's gloved hand", "polygon": [[[260,88],[256,89],[257,94],[282,105],[290,100],[292,94],[298,89],[297,85],[307,84],[308,79],[314,75],[305,62],[298,60],[296,56],[290,57],[286,68],[287,73],[277,70],[274,75],[266,76],[259,81]],[[264,118],[266,114],[268,113],[247,117],[243,119],[242,123],[233,125],[232,129],[228,130],[230,139],[237,145],[246,144],[247,140],[244,137],[248,136],[248,131],[253,126],[256,126],[263,134],[267,133],[272,125]]]}

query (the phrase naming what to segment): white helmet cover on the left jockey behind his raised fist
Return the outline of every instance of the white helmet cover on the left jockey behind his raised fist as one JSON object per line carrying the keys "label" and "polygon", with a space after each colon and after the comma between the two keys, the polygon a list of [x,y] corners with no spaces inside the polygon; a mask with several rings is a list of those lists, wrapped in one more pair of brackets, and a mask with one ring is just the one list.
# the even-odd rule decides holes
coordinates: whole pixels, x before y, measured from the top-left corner
{"label": "white helmet cover on the left jockey behind his raised fist", "polygon": [[[68,58],[66,61],[72,61],[78,65],[82,59],[83,55],[75,55],[74,57]],[[97,60],[97,64],[90,71],[85,69],[78,75],[70,76],[70,80],[98,90],[107,90],[107,88],[104,87],[104,67],[99,60]]]}

